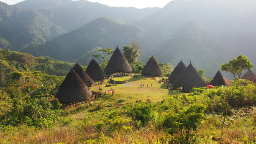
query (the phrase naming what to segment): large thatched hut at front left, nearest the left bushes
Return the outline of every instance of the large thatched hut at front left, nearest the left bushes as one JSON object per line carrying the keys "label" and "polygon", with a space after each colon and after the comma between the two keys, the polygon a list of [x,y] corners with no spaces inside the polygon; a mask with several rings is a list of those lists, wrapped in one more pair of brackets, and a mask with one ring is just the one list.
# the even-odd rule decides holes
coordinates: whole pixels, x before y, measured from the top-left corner
{"label": "large thatched hut at front left, nearest the left bushes", "polygon": [[87,88],[77,73],[71,70],[59,87],[55,98],[58,98],[61,104],[67,104],[74,101],[86,101],[91,95],[92,91]]}

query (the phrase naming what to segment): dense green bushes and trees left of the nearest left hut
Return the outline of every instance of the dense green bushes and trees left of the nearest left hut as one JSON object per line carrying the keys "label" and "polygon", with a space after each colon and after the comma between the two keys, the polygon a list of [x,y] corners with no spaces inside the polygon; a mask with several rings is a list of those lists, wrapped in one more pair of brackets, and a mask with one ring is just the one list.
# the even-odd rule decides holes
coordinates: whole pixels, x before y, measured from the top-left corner
{"label": "dense green bushes and trees left of the nearest left hut", "polygon": [[62,111],[56,99],[49,100],[56,94],[56,88],[64,77],[36,72],[13,72],[10,74],[8,87],[2,87],[0,93],[2,125],[26,123],[34,126],[48,126],[61,119]]}

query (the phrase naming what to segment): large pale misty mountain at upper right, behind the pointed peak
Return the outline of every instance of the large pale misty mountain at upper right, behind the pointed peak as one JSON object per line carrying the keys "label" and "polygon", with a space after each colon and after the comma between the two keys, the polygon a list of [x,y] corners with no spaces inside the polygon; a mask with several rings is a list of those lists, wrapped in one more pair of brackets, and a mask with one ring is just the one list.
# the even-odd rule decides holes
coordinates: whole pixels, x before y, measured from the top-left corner
{"label": "large pale misty mountain at upper right, behind the pointed peak", "polygon": [[208,48],[219,45],[216,52],[227,58],[222,63],[243,54],[255,64],[255,18],[255,0],[173,0],[137,24],[146,31],[153,29],[154,35],[169,40],[175,37],[181,25],[194,19],[214,36],[217,43],[212,42]]}

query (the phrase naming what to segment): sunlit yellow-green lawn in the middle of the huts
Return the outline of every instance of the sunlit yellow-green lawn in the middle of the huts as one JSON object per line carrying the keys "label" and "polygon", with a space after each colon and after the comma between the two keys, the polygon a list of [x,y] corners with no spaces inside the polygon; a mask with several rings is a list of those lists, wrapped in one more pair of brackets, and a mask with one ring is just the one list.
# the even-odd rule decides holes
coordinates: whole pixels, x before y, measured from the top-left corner
{"label": "sunlit yellow-green lawn in the middle of the huts", "polygon": [[[151,101],[161,101],[164,96],[167,96],[168,93],[174,93],[172,90],[167,90],[167,83],[159,83],[158,80],[151,79],[152,77],[132,77],[125,76],[123,79],[127,79],[129,84],[132,86],[123,86],[123,84],[113,84],[110,83],[110,80],[105,80],[102,85],[102,90],[99,90],[100,86],[91,87],[90,89],[94,92],[101,93],[102,97],[97,101],[97,103],[102,104],[118,104],[120,99],[123,99],[123,104],[133,103],[136,100],[147,100]],[[113,86],[105,87],[106,84],[111,84]],[[144,84],[143,87],[140,87],[140,84]],[[152,84],[152,86],[151,86]],[[148,86],[147,86],[148,85]],[[112,96],[112,93],[105,94],[105,91],[113,88],[117,90],[116,93]]]}

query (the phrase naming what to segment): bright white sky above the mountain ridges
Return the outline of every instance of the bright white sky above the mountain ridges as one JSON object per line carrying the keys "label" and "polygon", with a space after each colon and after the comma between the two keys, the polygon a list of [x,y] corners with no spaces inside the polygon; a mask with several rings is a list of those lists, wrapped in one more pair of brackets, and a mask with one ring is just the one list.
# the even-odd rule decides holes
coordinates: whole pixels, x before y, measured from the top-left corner
{"label": "bright white sky above the mountain ridges", "polygon": [[[0,0],[1,2],[13,5],[19,3],[23,0]],[[171,0],[88,0],[91,2],[98,2],[109,6],[115,7],[136,7],[136,8],[146,8],[146,7],[164,7]]]}

